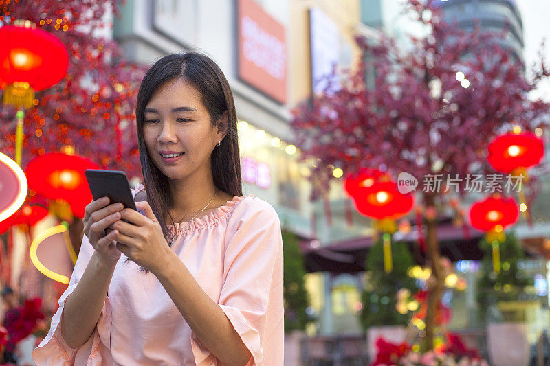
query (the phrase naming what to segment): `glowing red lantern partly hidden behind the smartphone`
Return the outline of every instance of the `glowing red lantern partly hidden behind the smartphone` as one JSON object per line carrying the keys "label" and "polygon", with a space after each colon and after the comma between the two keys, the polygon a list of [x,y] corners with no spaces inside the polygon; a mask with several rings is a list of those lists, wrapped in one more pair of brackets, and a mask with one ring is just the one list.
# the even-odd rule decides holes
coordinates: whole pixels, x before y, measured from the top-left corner
{"label": "glowing red lantern partly hidden behind the smartphone", "polygon": [[85,157],[52,152],[32,159],[25,175],[36,194],[69,202],[74,216],[83,218],[86,205],[93,199],[84,171],[98,168]]}

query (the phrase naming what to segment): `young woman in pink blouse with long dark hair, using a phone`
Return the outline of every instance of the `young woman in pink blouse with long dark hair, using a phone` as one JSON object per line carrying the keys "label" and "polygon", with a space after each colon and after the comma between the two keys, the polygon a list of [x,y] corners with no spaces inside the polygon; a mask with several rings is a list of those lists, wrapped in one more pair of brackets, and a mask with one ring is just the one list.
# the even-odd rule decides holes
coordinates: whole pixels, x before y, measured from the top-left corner
{"label": "young woman in pink blouse with long dark hair, using a phone", "polygon": [[283,365],[281,227],[270,204],[241,192],[228,81],[202,54],[165,56],[146,73],[136,117],[140,212],[106,197],[87,205],[69,288],[34,360]]}

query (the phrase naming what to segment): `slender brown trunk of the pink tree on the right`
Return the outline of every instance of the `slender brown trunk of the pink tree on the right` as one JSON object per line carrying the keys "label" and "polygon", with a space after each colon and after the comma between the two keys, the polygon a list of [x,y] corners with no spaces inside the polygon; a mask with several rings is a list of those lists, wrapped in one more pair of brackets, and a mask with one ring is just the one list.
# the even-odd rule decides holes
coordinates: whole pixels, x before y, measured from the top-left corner
{"label": "slender brown trunk of the pink tree on the right", "polygon": [[[426,207],[435,206],[435,194],[426,194]],[[423,339],[423,351],[433,350],[435,335],[435,319],[437,308],[443,293],[443,268],[441,268],[441,253],[439,253],[439,243],[437,242],[436,227],[437,215],[434,218],[428,218],[426,232],[426,244],[428,250],[428,265],[432,269],[433,280],[428,282],[430,296],[428,297],[428,311],[426,312],[426,336]]]}

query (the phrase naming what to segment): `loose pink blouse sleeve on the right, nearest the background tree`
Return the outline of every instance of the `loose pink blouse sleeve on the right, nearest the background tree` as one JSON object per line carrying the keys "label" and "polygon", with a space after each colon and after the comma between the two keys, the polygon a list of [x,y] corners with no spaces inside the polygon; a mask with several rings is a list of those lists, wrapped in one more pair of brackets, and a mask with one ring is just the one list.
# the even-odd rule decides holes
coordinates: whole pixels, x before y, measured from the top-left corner
{"label": "loose pink blouse sleeve on the right, nearest the background tree", "polygon": [[[259,198],[237,205],[228,220],[218,304],[252,354],[247,365],[283,365],[281,224]],[[191,339],[197,365],[212,360],[195,334]]]}

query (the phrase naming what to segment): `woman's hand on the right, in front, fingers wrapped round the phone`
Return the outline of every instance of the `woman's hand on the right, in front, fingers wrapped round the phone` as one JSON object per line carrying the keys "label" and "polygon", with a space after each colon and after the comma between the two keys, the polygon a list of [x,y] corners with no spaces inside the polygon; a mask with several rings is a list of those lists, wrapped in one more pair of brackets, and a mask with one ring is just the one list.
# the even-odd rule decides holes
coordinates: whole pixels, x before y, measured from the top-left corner
{"label": "woman's hand on the right, in front, fingers wrapped round the phone", "polygon": [[[159,268],[164,268],[170,247],[147,201],[136,202],[135,206],[143,214],[133,209],[123,209],[121,220],[111,225],[111,229],[117,231],[114,239],[116,247],[135,264],[156,273]],[[122,218],[131,224],[122,221]]]}

